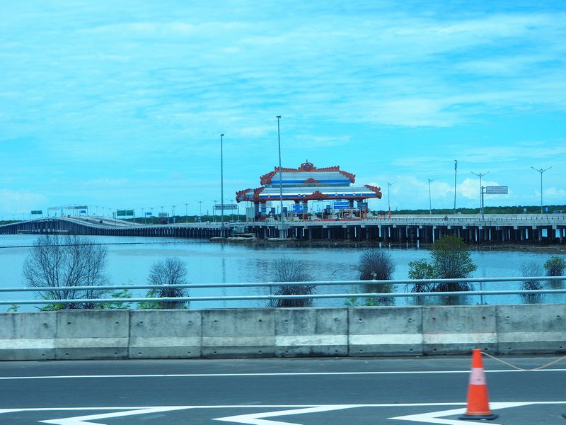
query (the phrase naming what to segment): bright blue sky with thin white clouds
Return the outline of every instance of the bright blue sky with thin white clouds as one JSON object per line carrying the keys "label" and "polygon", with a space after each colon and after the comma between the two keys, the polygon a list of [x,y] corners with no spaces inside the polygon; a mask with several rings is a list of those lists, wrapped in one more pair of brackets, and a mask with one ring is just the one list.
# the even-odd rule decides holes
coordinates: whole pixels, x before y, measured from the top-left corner
{"label": "bright blue sky with thin white clouds", "polygon": [[[212,212],[277,165],[371,208],[566,203],[563,1],[3,1],[0,217]],[[94,206],[92,207],[94,210]],[[137,210],[141,215],[141,210]]]}

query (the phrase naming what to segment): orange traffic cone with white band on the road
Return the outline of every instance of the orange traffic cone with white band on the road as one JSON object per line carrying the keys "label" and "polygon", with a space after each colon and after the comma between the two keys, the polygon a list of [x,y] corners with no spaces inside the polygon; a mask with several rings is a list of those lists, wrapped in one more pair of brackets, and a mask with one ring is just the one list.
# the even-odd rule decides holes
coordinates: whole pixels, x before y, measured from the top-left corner
{"label": "orange traffic cone with white band on the road", "polygon": [[470,373],[470,385],[468,385],[468,409],[458,419],[485,419],[492,421],[497,419],[497,414],[490,410],[490,402],[487,401],[487,383],[483,371],[482,353],[478,348],[472,353],[472,371]]}

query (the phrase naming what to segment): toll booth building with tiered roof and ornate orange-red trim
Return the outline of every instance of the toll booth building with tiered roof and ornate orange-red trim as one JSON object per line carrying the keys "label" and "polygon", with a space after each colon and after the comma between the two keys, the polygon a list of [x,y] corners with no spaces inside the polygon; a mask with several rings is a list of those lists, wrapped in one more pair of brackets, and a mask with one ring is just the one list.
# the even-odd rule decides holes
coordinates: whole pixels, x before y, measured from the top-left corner
{"label": "toll booth building with tiered roof and ornate orange-red trim", "polygon": [[333,209],[357,208],[366,212],[367,204],[364,200],[381,198],[381,188],[368,184],[353,186],[355,179],[355,174],[341,170],[340,166],[317,168],[307,161],[297,169],[282,168],[281,173],[276,166],[273,171],[260,177],[262,186],[236,192],[236,200],[238,203],[253,203],[255,217],[265,217],[269,215],[267,203],[279,201],[279,191],[282,188],[283,200],[292,200],[293,212],[297,214],[308,212],[309,200],[328,200],[328,205],[332,205]]}

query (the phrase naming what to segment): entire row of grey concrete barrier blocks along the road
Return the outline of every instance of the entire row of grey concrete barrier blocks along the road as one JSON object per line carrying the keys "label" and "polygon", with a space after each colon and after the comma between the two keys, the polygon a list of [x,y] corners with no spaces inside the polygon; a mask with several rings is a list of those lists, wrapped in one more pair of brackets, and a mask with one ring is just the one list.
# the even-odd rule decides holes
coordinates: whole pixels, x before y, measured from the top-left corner
{"label": "entire row of grey concrete barrier blocks along the road", "polygon": [[566,304],[0,314],[0,360],[565,353]]}

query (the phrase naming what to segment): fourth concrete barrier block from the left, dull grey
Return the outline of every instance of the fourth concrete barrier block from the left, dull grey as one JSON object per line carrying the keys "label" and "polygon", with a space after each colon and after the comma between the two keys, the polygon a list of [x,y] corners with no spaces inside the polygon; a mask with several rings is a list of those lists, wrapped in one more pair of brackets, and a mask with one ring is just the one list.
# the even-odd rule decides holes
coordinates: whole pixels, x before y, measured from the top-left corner
{"label": "fourth concrete barrier block from the left, dull grey", "polygon": [[275,356],[274,309],[202,310],[202,356]]}

